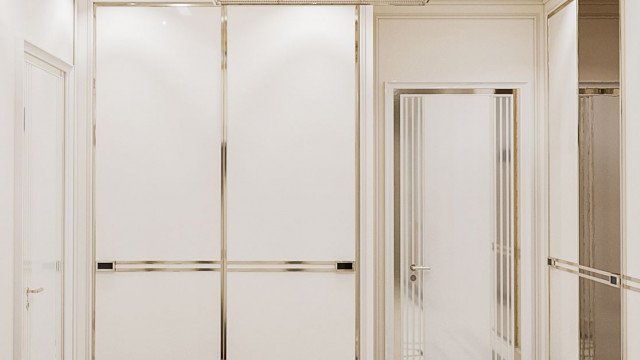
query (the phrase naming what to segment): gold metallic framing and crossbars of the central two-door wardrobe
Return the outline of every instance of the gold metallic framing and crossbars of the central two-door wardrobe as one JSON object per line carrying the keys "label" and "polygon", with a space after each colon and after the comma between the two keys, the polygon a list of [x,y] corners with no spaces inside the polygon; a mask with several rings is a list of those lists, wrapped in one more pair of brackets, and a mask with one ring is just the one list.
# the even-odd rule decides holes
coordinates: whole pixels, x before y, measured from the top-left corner
{"label": "gold metallic framing and crossbars of the central two-door wardrobe", "polygon": [[[429,0],[426,0],[428,2]],[[364,3],[363,3],[364,4]],[[311,4],[308,4],[311,5]],[[221,125],[222,125],[222,138],[220,142],[221,147],[221,254],[220,261],[163,261],[163,260],[142,260],[142,261],[113,261],[114,272],[189,272],[189,271],[219,271],[221,279],[221,318],[220,318],[220,357],[221,360],[227,358],[227,290],[226,280],[228,272],[335,272],[335,273],[353,273],[355,272],[355,359],[359,360],[361,357],[360,349],[360,336],[361,336],[361,273],[360,273],[360,241],[361,241],[361,164],[360,164],[360,127],[361,127],[361,109],[360,109],[360,2],[354,1],[352,4],[345,4],[336,2],[326,3],[322,5],[341,5],[341,6],[354,6],[355,8],[355,261],[227,261],[227,50],[228,50],[228,34],[227,34],[227,6],[216,5],[213,3],[202,2],[98,2],[92,3],[92,31],[93,34],[91,44],[91,72],[92,72],[92,109],[91,109],[91,358],[95,360],[95,344],[96,344],[96,274],[98,272],[104,272],[103,270],[97,270],[96,261],[96,217],[95,217],[95,202],[96,202],[96,13],[98,7],[220,7],[220,26],[221,26]],[[352,270],[340,270],[337,268],[337,263],[348,262],[352,263]],[[120,269],[116,268],[117,264],[127,265],[140,265],[140,264],[191,264],[206,263],[206,264],[220,264],[219,267],[198,268],[197,266],[170,268],[170,267],[141,267],[139,269]],[[246,268],[229,268],[229,265],[285,265],[280,267],[246,267]],[[289,265],[288,267],[286,265]],[[290,265],[305,265],[305,267],[292,267]],[[323,268],[314,268],[309,265],[325,265]],[[331,267],[328,267],[330,265]]]}

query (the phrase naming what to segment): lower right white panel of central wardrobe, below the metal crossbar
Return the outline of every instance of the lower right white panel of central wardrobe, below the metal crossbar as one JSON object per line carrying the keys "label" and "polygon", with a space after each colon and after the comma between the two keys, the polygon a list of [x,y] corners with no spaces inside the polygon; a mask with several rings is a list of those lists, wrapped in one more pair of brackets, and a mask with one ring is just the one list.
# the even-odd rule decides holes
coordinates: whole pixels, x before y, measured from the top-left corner
{"label": "lower right white panel of central wardrobe, below the metal crossbar", "polygon": [[353,273],[230,273],[229,360],[353,360]]}

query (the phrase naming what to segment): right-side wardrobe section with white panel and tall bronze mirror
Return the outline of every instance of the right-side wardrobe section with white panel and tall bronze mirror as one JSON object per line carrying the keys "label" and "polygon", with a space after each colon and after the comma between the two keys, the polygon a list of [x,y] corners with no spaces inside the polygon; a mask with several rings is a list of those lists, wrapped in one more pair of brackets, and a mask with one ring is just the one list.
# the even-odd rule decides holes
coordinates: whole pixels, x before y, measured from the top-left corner
{"label": "right-side wardrobe section with white panel and tall bronze mirror", "polygon": [[622,359],[620,4],[548,15],[550,359]]}

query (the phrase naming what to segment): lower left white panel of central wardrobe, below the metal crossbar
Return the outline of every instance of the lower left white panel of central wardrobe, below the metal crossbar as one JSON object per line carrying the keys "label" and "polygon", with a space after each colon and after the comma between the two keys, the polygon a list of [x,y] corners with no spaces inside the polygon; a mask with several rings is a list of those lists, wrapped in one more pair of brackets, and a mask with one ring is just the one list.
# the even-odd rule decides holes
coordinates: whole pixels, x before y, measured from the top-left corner
{"label": "lower left white panel of central wardrobe, below the metal crossbar", "polygon": [[96,359],[220,358],[220,273],[96,277]]}

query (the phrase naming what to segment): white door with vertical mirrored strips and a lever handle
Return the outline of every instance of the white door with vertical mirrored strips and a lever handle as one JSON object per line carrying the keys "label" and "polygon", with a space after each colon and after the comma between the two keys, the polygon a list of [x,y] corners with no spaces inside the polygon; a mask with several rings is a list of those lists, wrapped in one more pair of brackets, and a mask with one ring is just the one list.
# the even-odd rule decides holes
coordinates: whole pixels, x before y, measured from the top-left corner
{"label": "white door with vertical mirrored strips and a lever handle", "polygon": [[395,359],[513,359],[514,95],[396,95]]}

